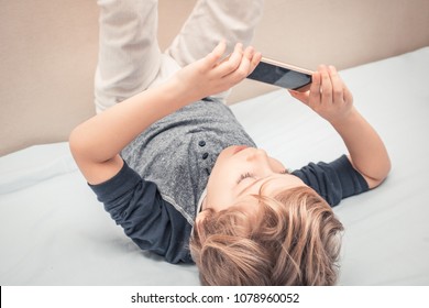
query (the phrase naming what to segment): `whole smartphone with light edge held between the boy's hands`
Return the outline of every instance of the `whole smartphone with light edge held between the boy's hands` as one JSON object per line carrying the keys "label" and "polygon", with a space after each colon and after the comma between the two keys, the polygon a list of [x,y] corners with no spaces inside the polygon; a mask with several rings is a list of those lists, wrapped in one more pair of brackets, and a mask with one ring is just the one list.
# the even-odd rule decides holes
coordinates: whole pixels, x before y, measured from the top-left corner
{"label": "whole smartphone with light edge held between the boy's hands", "polygon": [[249,79],[305,92],[311,86],[311,70],[262,57]]}

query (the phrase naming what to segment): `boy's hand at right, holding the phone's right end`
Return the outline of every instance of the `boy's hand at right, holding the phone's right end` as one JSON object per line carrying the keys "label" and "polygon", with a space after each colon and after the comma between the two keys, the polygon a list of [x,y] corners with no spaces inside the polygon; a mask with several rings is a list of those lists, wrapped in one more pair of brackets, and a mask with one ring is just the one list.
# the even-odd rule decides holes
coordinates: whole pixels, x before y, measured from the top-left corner
{"label": "boy's hand at right, holding the phone's right end", "polygon": [[333,66],[319,66],[309,91],[289,92],[331,123],[346,119],[353,109],[352,94]]}

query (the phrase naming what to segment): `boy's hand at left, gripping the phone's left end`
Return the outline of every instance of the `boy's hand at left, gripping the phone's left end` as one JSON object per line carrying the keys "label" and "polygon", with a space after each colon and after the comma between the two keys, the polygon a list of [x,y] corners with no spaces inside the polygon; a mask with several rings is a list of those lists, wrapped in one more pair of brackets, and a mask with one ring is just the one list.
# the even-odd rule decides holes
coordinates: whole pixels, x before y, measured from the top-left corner
{"label": "boy's hand at left, gripping the phone's left end", "polygon": [[248,77],[261,61],[261,53],[255,53],[253,47],[243,51],[240,43],[230,56],[222,59],[226,48],[224,42],[219,43],[206,57],[174,76],[177,87],[189,97],[189,101],[230,89]]}

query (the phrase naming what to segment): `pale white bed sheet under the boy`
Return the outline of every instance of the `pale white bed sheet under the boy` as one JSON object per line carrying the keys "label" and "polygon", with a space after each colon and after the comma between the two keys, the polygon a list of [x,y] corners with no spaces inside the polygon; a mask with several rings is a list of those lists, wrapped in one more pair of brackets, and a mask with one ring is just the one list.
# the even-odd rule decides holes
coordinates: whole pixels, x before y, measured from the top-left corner
{"label": "pale white bed sheet under the boy", "polygon": [[[377,129],[393,170],[334,211],[339,285],[429,285],[429,47],[341,72]],[[232,106],[256,143],[288,167],[345,151],[330,125],[277,90]],[[191,265],[140,251],[96,200],[67,143],[0,158],[1,285],[198,285]]]}

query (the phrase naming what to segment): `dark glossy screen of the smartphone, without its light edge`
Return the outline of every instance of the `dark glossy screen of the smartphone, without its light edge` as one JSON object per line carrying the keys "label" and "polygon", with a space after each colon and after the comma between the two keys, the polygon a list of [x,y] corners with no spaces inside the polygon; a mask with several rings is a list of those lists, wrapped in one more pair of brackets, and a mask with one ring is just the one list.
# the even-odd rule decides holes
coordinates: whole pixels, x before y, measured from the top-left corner
{"label": "dark glossy screen of the smartphone, without its light edge", "polygon": [[311,75],[261,61],[248,78],[297,90],[311,84]]}

